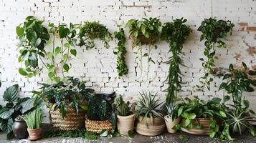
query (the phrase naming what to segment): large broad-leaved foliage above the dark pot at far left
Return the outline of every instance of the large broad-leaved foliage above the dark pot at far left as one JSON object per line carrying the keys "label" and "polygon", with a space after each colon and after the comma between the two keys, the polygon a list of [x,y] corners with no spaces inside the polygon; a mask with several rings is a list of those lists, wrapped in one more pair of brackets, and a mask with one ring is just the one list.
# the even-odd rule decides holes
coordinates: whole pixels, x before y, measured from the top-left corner
{"label": "large broad-leaved foliage above the dark pot at far left", "polygon": [[5,90],[3,99],[6,105],[0,109],[0,129],[11,139],[14,119],[36,107],[37,101],[29,97],[20,98],[17,84]]}

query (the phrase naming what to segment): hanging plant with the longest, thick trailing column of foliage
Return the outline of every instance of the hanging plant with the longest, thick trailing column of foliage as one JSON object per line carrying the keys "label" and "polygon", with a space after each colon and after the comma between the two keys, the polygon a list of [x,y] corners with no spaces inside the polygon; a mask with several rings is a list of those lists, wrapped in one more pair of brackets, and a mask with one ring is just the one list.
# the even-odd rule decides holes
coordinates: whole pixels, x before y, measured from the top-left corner
{"label": "hanging plant with the longest, thick trailing column of foliage", "polygon": [[169,87],[165,90],[168,92],[166,95],[166,104],[173,104],[177,97],[178,92],[181,90],[181,69],[180,66],[184,66],[182,55],[183,44],[188,39],[191,29],[184,23],[186,19],[175,19],[174,22],[167,22],[163,24],[161,39],[169,43],[172,56],[166,61],[169,64],[169,75],[166,79]]}

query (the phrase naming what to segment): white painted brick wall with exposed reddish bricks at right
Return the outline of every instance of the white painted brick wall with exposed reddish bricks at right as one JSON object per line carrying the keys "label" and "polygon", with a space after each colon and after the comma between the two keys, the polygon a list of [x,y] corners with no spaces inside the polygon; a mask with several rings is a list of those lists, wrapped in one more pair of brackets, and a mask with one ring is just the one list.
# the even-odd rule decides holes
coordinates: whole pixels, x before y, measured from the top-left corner
{"label": "white painted brick wall with exposed reddish bricks at right", "polygon": [[[17,68],[18,52],[16,50],[16,25],[22,23],[28,15],[44,19],[45,24],[54,22],[81,24],[82,21],[100,21],[108,26],[113,33],[118,26],[124,26],[129,19],[141,19],[142,17],[158,17],[164,23],[175,18],[188,19],[187,24],[193,29],[193,33],[184,44],[184,92],[182,96],[199,95],[201,97],[222,97],[223,92],[217,92],[220,79],[215,80],[211,92],[193,92],[194,85],[199,83],[203,69],[199,58],[203,56],[204,43],[199,41],[200,33],[196,31],[204,18],[210,16],[217,19],[229,19],[234,24],[232,36],[227,38],[227,49],[218,49],[217,66],[226,68],[230,63],[241,66],[245,61],[251,68],[256,69],[256,1],[255,0],[0,0],[0,74],[3,82],[0,93],[12,84],[19,84],[22,96],[29,96],[29,92],[39,87],[39,82],[47,79],[47,71],[43,71],[38,77],[26,79],[19,75]],[[126,32],[128,29],[126,29]],[[159,42],[158,49],[151,51],[156,64],[151,64],[149,77],[136,76],[140,73],[136,54],[131,49],[131,41],[127,42],[128,54],[126,61],[129,73],[126,77],[118,79],[116,57],[113,54],[115,41],[110,42],[110,49],[105,49],[98,42],[97,49],[88,51],[83,47],[77,47],[77,58],[73,62],[70,76],[86,79],[87,86],[93,87],[97,92],[117,92],[125,95],[125,99],[136,100],[138,92],[148,89],[158,92],[164,99],[163,89],[169,65],[164,64],[171,54],[168,54],[169,45]],[[50,47],[48,47],[50,48]],[[143,51],[148,47],[144,46]],[[143,59],[146,65],[146,59]],[[147,69],[146,66],[143,69]],[[256,109],[255,93],[247,94],[253,109]]]}

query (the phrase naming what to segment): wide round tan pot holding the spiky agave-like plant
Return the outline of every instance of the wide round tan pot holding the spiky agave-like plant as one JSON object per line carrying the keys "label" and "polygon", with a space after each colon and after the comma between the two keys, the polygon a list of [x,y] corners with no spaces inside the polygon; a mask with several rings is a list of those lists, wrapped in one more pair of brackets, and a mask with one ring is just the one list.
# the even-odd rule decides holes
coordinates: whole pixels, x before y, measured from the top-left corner
{"label": "wide round tan pot holding the spiky agave-like plant", "polygon": [[[147,121],[147,125],[145,124],[145,119]],[[164,119],[162,118],[153,118],[153,124],[150,118],[144,118],[139,116],[136,122],[136,132],[138,134],[142,134],[144,136],[156,136],[161,134],[166,127],[164,123]]]}

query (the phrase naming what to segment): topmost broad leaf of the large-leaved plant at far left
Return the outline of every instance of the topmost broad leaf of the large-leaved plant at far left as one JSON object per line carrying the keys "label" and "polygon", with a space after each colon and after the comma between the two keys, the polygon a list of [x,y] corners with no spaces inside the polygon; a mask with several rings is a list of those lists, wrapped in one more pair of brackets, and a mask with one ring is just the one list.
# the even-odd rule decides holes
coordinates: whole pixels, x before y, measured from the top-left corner
{"label": "topmost broad leaf of the large-leaved plant at far left", "polygon": [[18,102],[18,85],[8,87],[4,92],[3,98],[5,102]]}

